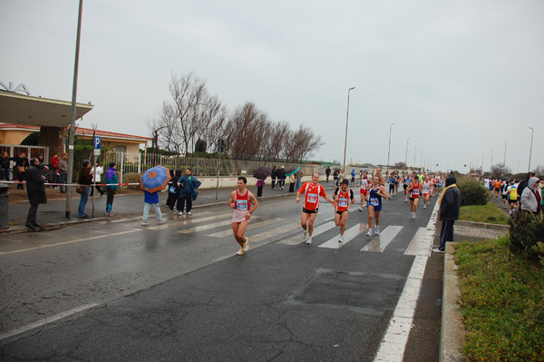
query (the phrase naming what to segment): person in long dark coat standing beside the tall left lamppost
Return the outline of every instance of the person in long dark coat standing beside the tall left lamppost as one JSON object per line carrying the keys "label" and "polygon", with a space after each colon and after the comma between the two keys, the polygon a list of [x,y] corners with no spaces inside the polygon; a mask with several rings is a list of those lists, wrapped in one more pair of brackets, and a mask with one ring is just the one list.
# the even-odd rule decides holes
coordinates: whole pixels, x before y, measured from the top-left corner
{"label": "person in long dark coat standing beside the tall left lamppost", "polygon": [[31,159],[30,166],[26,170],[26,193],[30,202],[30,209],[26,217],[27,228],[36,229],[42,226],[36,221],[38,206],[41,203],[47,203],[47,195],[45,194],[45,182],[47,181],[44,172],[40,170],[40,161],[37,158]]}

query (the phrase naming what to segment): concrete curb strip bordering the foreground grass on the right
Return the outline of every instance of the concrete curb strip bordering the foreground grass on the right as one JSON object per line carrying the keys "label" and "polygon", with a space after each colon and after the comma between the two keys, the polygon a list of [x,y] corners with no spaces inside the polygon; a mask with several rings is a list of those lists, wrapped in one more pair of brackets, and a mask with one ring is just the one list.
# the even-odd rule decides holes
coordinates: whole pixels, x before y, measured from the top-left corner
{"label": "concrete curb strip bordering the foreground grass on the right", "polygon": [[459,278],[457,276],[457,265],[455,265],[453,254],[454,242],[446,243],[444,254],[444,276],[442,284],[442,328],[440,336],[440,361],[461,362],[464,344],[464,328],[461,312],[459,311]]}

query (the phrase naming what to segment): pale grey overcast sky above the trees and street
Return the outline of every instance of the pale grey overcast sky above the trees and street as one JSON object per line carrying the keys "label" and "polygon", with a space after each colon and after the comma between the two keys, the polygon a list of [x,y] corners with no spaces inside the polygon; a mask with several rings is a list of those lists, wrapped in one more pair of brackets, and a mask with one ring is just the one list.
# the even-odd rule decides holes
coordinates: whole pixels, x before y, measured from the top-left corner
{"label": "pale grey overcast sky above the trees and street", "polygon": [[[70,101],[77,0],[1,0],[0,81]],[[150,136],[171,73],[312,127],[312,159],[544,166],[544,2],[87,0],[82,126]],[[408,153],[406,143],[408,138]],[[414,150],[415,149],[415,150]],[[491,149],[493,152],[491,152]],[[423,160],[422,160],[423,152]],[[467,164],[467,169],[464,168]],[[434,167],[432,167],[434,169]]]}

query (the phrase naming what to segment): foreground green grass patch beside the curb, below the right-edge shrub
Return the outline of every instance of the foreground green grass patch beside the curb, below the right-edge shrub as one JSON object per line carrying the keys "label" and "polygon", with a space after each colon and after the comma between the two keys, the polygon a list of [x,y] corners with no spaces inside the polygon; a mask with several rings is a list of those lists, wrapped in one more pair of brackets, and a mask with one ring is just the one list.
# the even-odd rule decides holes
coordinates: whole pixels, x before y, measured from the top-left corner
{"label": "foreground green grass patch beside the curb, below the right-edge shrub", "polygon": [[544,361],[544,269],[507,241],[455,246],[468,361]]}

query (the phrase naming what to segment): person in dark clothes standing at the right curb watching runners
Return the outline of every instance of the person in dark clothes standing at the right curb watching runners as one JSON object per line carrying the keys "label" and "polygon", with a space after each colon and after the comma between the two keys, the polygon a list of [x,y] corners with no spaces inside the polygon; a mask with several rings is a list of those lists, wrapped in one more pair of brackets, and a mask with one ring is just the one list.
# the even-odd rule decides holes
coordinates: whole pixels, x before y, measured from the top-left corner
{"label": "person in dark clothes standing at the right curb watching runners", "polygon": [[453,241],[453,223],[459,220],[459,210],[461,209],[461,192],[455,184],[457,179],[450,173],[446,178],[446,188],[438,203],[440,204],[440,220],[442,220],[442,230],[440,231],[440,247],[434,248],[434,252],[444,252],[446,250],[446,241]]}

